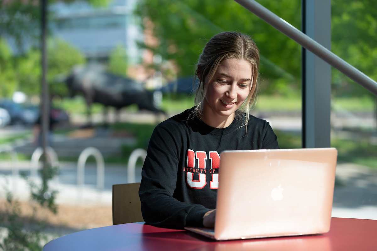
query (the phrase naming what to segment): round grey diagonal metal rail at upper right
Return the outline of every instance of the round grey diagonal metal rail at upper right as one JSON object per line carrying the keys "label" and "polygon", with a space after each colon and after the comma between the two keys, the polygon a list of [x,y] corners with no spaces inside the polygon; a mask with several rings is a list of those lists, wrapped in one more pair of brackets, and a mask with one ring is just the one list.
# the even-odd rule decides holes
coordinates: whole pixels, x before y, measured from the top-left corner
{"label": "round grey diagonal metal rail at upper right", "polygon": [[234,0],[377,96],[377,82],[254,0]]}

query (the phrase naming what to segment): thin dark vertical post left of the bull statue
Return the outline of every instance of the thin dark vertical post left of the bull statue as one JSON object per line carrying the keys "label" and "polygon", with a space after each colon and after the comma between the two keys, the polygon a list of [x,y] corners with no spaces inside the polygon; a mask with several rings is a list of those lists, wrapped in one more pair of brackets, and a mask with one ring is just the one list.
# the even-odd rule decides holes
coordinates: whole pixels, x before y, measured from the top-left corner
{"label": "thin dark vertical post left of the bull statue", "polygon": [[49,131],[49,90],[46,82],[47,62],[46,62],[46,23],[47,23],[47,0],[41,0],[41,67],[42,67],[42,103],[41,103],[41,133],[43,149],[43,168],[46,166],[46,146],[48,146]]}

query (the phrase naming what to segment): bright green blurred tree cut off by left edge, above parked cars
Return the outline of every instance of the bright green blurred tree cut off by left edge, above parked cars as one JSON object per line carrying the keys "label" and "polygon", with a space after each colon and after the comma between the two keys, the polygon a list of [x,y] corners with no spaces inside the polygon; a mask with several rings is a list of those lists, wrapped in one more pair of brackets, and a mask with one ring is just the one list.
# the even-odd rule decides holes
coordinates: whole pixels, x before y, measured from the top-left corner
{"label": "bright green blurred tree cut off by left edge, above parked cars", "polygon": [[15,84],[12,51],[6,40],[0,37],[0,97],[12,97]]}

